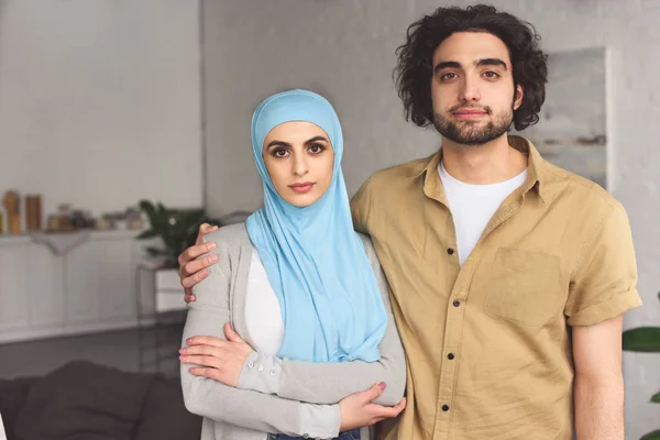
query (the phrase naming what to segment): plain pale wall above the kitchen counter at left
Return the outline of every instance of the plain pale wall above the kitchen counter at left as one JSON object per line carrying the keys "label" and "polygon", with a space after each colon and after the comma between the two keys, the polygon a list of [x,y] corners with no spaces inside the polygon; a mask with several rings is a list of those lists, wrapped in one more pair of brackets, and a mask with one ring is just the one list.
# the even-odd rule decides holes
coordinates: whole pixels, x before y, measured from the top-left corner
{"label": "plain pale wall above the kitchen counter at left", "polygon": [[198,23],[195,0],[0,0],[0,193],[201,206]]}

